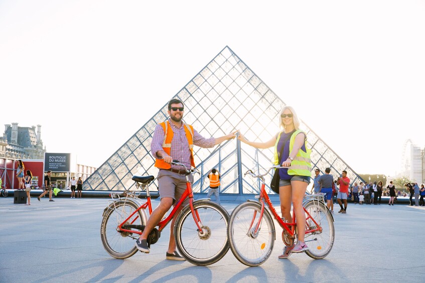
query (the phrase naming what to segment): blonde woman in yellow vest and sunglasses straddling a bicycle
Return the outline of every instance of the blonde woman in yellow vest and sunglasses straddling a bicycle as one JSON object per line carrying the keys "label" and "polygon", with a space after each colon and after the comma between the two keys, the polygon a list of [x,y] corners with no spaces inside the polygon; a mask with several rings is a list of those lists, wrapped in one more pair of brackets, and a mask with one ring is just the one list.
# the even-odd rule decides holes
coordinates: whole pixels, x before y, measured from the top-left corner
{"label": "blonde woman in yellow vest and sunglasses straddling a bicycle", "polygon": [[307,136],[299,130],[300,120],[294,108],[285,106],[279,117],[281,131],[267,142],[251,142],[239,133],[238,139],[255,148],[274,146],[274,164],[284,167],[279,169],[279,199],[282,217],[291,221],[291,201],[297,217],[297,244],[286,246],[279,258],[288,258],[291,252],[302,252],[308,249],[304,242],[306,232],[306,215],[303,208],[303,198],[311,177],[311,150],[307,148]]}

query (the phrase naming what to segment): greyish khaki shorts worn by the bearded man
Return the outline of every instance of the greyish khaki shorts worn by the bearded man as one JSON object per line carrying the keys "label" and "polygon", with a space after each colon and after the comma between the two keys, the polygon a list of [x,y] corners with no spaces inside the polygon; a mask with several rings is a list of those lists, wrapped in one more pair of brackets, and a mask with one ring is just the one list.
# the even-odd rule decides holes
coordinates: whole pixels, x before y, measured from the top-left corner
{"label": "greyish khaki shorts worn by the bearded man", "polygon": [[[158,191],[160,198],[171,197],[173,204],[183,195],[186,190],[186,175],[181,175],[168,170],[158,172]],[[193,175],[189,175],[189,181],[193,182]],[[189,198],[185,200],[184,205],[189,203]]]}

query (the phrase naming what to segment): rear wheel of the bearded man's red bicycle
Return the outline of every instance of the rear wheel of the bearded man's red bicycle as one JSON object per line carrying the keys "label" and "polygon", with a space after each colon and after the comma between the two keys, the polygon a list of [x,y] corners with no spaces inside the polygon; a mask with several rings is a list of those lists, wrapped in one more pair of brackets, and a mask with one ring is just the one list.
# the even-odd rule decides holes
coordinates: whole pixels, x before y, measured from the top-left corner
{"label": "rear wheel of the bearded man's red bicycle", "polygon": [[[100,226],[100,238],[102,239],[103,247],[106,252],[112,257],[122,259],[130,257],[137,252],[137,248],[134,245],[134,238],[139,235],[117,230],[118,225],[136,209],[137,205],[132,202],[117,201],[106,210]],[[137,215],[137,218],[133,224],[146,224],[140,210],[137,211],[135,215]],[[134,218],[136,217],[135,215],[133,216]]]}

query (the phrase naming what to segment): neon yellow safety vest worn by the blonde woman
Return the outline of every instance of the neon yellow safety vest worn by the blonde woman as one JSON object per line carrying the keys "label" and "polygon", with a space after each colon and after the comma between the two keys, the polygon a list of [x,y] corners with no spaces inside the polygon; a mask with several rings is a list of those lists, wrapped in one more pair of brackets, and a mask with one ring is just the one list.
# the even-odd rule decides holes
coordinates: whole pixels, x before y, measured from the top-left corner
{"label": "neon yellow safety vest worn by the blonde woman", "polygon": [[[294,142],[295,137],[299,133],[304,133],[303,130],[297,130],[291,135],[291,139],[289,142],[289,152],[291,153],[292,149],[294,148]],[[280,135],[282,132],[280,132],[277,135],[276,143],[274,144],[274,156],[273,156],[273,164],[279,165],[279,157],[277,155],[277,143],[279,142]],[[300,176],[311,176],[312,175],[312,165],[311,165],[311,149],[307,148],[307,139],[305,140],[305,147],[306,151],[299,150],[297,153],[297,156],[294,158],[294,160],[291,162],[291,166],[288,168],[288,175],[300,175]]]}

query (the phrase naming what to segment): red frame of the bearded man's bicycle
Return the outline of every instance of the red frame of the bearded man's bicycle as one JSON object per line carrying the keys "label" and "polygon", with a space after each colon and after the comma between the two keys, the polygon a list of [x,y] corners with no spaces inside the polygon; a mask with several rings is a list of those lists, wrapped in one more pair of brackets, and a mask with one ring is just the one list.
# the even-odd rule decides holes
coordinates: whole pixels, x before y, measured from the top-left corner
{"label": "red frame of the bearded man's bicycle", "polygon": [[[148,192],[149,192],[149,188],[148,188]],[[192,184],[189,181],[189,177],[186,176],[186,190],[184,191],[184,193],[182,194],[182,196],[179,198],[179,200],[176,202],[176,204],[174,205],[173,210],[171,211],[170,215],[168,215],[167,218],[165,218],[164,220],[161,220],[158,223],[158,231],[161,232],[162,230],[164,230],[164,228],[168,225],[168,223],[173,219],[173,217],[176,215],[177,211],[179,211],[179,209],[182,207],[184,201],[186,200],[186,198],[189,197],[189,205],[190,205],[190,209],[192,211],[192,216],[193,219],[196,223],[196,226],[198,227],[199,231],[202,231],[202,224],[201,224],[201,219],[199,217],[198,211],[194,211],[193,209],[193,191],[192,191]],[[152,214],[152,203],[151,203],[151,196],[148,193],[148,200],[140,205],[136,210],[134,210],[122,223],[120,223],[118,225],[119,230],[123,231],[123,232],[131,232],[131,233],[135,233],[135,234],[139,234],[141,235],[141,233],[143,233],[143,230],[141,231],[135,231],[135,230],[129,230],[129,229],[124,229],[122,228],[122,225],[124,225],[129,219],[131,219],[131,217],[134,216],[134,214],[137,213],[137,211],[139,211],[140,209],[146,209],[149,208],[149,214]],[[134,221],[136,221],[138,218],[138,216],[136,216],[134,219],[131,220],[131,222],[129,224],[125,224],[127,225],[132,225],[134,223]]]}

